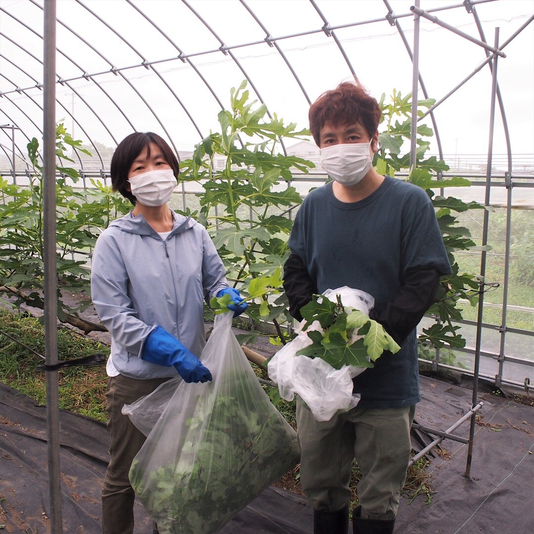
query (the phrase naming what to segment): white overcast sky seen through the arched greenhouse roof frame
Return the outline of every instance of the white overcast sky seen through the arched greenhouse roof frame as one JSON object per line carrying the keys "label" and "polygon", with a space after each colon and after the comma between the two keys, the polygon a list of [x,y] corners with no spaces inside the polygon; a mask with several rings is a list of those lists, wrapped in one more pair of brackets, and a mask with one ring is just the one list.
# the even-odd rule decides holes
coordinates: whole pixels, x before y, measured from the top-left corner
{"label": "white overcast sky seen through the arched greenhouse roof frame", "polygon": [[[467,13],[461,2],[451,4],[451,1],[421,0],[420,4],[426,10],[459,6],[433,14],[461,32],[479,38],[472,15]],[[72,32],[58,25],[57,43],[62,54],[58,54],[57,72],[66,80],[75,79],[69,82],[70,88],[57,86],[58,99],[64,105],[58,105],[57,117],[66,117],[70,128],[73,123],[65,108],[74,111],[80,122],[79,125],[74,124],[75,137],[87,141],[85,130],[92,140],[114,146],[132,129],[162,132],[164,128],[178,150],[192,150],[201,135],[217,129],[216,115],[220,107],[189,63],[174,59],[158,62],[153,69],[138,66],[142,59],[152,62],[176,58],[178,52],[130,4],[124,0],[84,0],[83,4],[129,44],[121,41],[82,4],[74,0],[58,0],[58,19],[100,52],[100,55],[93,52]],[[323,21],[308,0],[248,0],[247,6],[260,19],[263,28],[237,0],[191,0],[193,9],[209,24],[219,40],[182,2],[135,0],[133,4],[190,56],[225,107],[230,88],[240,84],[244,73],[230,55],[217,50],[221,41],[230,47],[260,42],[233,48],[232,53],[271,112],[276,112],[286,122],[307,127],[307,99],[276,48],[263,42],[265,30],[272,37],[286,37],[277,43],[311,100],[324,90],[350,79],[347,62],[333,38],[324,32],[314,31],[321,28]],[[414,1],[391,0],[390,4],[395,14],[410,14],[410,5]],[[403,94],[411,91],[412,66],[397,29],[383,20],[373,22],[383,19],[387,12],[381,0],[317,0],[317,5],[331,27],[367,22],[336,29],[335,33],[360,82],[373,96],[379,99],[382,92],[389,95],[393,89]],[[42,11],[29,0],[0,0],[0,8],[5,10],[0,12],[0,32],[35,56],[42,57],[40,37],[14,19],[19,18],[41,35]],[[497,0],[476,4],[475,9],[482,20],[486,40],[493,43],[495,28],[498,27],[499,42],[502,43],[534,13],[534,0]],[[398,24],[413,46],[413,16],[399,18]],[[306,32],[310,33],[295,36]],[[19,94],[13,92],[14,84],[27,89],[35,84],[32,77],[42,82],[42,67],[3,37],[0,37],[0,50],[9,58],[6,61],[0,57],[0,90],[7,93],[6,98],[0,99],[0,123],[17,120],[29,133],[35,127],[17,106],[37,125],[42,124],[37,105],[42,104],[42,92],[28,89],[26,95]],[[504,52],[507,57],[498,61],[498,78],[511,131],[512,151],[532,155],[534,24],[523,30]],[[484,58],[485,53],[477,44],[421,19],[420,72],[430,97],[442,98],[472,73]],[[117,68],[132,68],[123,70],[123,75],[114,75],[109,73],[110,64]],[[16,65],[22,65],[30,77],[21,73]],[[160,77],[155,76],[154,70]],[[92,79],[98,82],[99,87],[82,78],[83,73],[94,75]],[[130,83],[124,78],[128,78]],[[85,103],[74,94],[73,89]],[[27,95],[35,103],[29,101]],[[446,154],[487,152],[490,99],[491,73],[485,66],[436,109]],[[427,123],[430,124],[430,121]],[[23,141],[20,140],[22,146],[26,144]],[[5,133],[0,136],[0,142],[9,144]],[[496,116],[494,152],[505,152],[500,114]]]}

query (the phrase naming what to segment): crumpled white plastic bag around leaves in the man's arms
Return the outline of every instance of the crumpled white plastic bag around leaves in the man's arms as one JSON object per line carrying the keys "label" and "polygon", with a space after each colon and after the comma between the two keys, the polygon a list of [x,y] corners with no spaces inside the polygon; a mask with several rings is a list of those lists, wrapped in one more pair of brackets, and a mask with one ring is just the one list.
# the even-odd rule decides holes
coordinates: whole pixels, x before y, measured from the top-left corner
{"label": "crumpled white plastic bag around leaves in the man's arms", "polygon": [[[359,310],[366,315],[373,308],[374,299],[359,289],[343,286],[327,289],[324,296],[337,302],[340,295],[345,308]],[[307,332],[321,330],[318,321],[302,331],[305,321],[295,329],[295,339],[284,345],[268,363],[270,378],[278,384],[280,396],[293,400],[295,393],[308,405],[318,421],[328,421],[338,410],[348,410],[358,404],[359,395],[352,395],[352,379],[365,371],[365,367],[344,365],[336,370],[321,358],[295,356],[312,344]],[[355,341],[355,340],[353,340]]]}

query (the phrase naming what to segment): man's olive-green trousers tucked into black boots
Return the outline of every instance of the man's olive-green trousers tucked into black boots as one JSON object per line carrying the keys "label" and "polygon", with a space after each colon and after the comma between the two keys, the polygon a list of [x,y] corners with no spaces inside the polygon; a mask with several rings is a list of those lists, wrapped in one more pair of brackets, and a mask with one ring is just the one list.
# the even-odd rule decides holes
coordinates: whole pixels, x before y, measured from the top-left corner
{"label": "man's olive-green trousers tucked into black boots", "polygon": [[313,508],[335,512],[349,504],[352,460],[356,458],[362,472],[357,486],[362,519],[394,519],[410,460],[414,412],[415,406],[356,406],[329,421],[317,421],[299,398],[300,480]]}

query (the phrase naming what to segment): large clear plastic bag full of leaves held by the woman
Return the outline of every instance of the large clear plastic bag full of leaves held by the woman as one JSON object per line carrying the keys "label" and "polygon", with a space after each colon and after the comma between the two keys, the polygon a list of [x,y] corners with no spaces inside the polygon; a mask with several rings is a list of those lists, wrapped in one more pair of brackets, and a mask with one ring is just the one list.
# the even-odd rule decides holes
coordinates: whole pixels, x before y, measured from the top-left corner
{"label": "large clear plastic bag full of leaves held by the woman", "polygon": [[[258,382],[232,316],[216,316],[202,351],[213,381],[176,385],[130,469],[132,487],[161,534],[221,529],[300,461],[295,431]],[[156,405],[170,388],[151,394]]]}

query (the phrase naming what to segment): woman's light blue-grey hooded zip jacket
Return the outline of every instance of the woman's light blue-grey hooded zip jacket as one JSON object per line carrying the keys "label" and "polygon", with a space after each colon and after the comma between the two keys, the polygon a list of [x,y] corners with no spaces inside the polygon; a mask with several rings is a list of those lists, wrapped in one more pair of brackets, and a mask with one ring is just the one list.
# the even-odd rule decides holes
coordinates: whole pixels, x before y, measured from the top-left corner
{"label": "woman's light blue-grey hooded zip jacket", "polygon": [[130,378],[175,376],[174,367],[139,355],[156,326],[200,357],[205,345],[203,301],[228,286],[206,229],[173,212],[165,241],[142,215],[113,221],[98,237],[91,264],[91,297],[112,336],[117,371]]}

